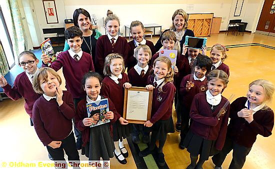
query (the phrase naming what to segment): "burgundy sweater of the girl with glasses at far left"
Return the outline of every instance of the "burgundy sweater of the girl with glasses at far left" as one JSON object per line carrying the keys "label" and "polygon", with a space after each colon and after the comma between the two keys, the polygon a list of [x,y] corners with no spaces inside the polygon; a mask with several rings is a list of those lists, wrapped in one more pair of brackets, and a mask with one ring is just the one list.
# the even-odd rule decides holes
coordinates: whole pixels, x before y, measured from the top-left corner
{"label": "burgundy sweater of the girl with glasses at far left", "polygon": [[30,118],[32,118],[33,103],[37,98],[40,97],[41,94],[34,92],[32,84],[26,75],[26,72],[23,71],[16,76],[12,88],[9,84],[5,85],[2,88],[4,89],[4,93],[13,100],[17,100],[21,97],[24,97],[25,110],[27,114],[30,116]]}

